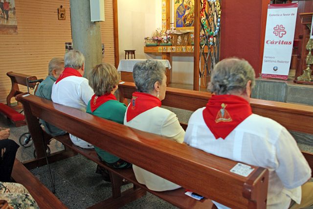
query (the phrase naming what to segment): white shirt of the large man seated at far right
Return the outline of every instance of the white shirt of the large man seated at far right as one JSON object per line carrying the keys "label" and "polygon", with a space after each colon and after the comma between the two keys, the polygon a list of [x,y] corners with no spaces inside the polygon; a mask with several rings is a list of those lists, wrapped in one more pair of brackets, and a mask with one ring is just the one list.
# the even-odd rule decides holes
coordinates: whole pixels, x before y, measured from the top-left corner
{"label": "white shirt of the large man seated at far right", "polygon": [[[268,209],[288,209],[301,201],[301,185],[311,177],[295,140],[276,121],[252,114],[225,139],[215,139],[198,109],[190,117],[184,141],[192,147],[234,161],[268,168]],[[216,203],[218,208],[227,208]]]}

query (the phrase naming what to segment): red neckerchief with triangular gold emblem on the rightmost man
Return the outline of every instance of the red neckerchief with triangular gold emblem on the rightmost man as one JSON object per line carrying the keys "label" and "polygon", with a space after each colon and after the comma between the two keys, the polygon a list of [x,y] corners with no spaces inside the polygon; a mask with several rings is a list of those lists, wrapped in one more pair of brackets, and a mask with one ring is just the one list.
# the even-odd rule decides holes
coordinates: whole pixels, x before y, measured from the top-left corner
{"label": "red neckerchief with triangular gold emblem on the rightmost man", "polygon": [[235,95],[212,95],[203,110],[203,119],[216,139],[225,139],[252,114],[246,99]]}

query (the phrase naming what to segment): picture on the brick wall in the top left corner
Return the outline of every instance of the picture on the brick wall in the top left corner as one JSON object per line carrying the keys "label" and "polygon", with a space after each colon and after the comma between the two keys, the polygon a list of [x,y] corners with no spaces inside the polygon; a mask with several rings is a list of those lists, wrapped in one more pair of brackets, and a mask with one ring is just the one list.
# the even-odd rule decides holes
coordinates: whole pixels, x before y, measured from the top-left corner
{"label": "picture on the brick wall in the top left corner", "polygon": [[0,0],[0,35],[18,34],[15,0]]}

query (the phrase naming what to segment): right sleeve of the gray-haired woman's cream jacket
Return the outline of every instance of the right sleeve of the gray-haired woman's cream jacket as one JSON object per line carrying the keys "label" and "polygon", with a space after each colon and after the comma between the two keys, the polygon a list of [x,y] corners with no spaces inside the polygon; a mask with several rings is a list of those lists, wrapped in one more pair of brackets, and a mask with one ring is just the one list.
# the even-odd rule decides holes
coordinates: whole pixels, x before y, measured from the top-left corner
{"label": "right sleeve of the gray-haired woman's cream jacket", "polygon": [[179,143],[184,141],[185,131],[179,124],[179,120],[174,113],[170,113],[161,126],[161,136],[173,139]]}

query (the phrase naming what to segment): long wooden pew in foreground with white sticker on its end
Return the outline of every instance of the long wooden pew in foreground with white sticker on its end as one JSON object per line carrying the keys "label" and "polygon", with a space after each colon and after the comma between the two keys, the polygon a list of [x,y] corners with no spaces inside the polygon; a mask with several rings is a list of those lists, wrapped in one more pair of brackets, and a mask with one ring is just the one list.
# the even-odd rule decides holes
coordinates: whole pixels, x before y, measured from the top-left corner
{"label": "long wooden pew in foreground with white sticker on its end", "polygon": [[[254,168],[252,173],[248,177],[243,177],[230,172],[237,162],[210,155],[186,144],[132,129],[37,96],[18,95],[17,100],[23,104],[28,124],[32,123],[36,126],[37,118],[42,118],[130,163],[228,207],[266,208],[268,170],[265,168],[251,166]],[[40,132],[39,124],[34,131],[36,129]],[[37,139],[33,138],[33,140]],[[37,149],[40,147],[36,147]],[[84,154],[89,159],[92,155],[94,154]],[[134,174],[130,174],[129,171],[114,172],[119,177],[133,182],[134,185],[148,190],[145,186],[136,183]],[[148,191],[181,208],[198,208],[199,203],[201,207],[202,203],[208,201],[205,199],[197,202],[187,196],[176,196],[176,192],[181,194],[183,189],[166,192]],[[116,199],[120,201],[119,198]],[[183,199],[194,205],[190,203],[182,205]],[[104,208],[104,205],[101,207]]]}

